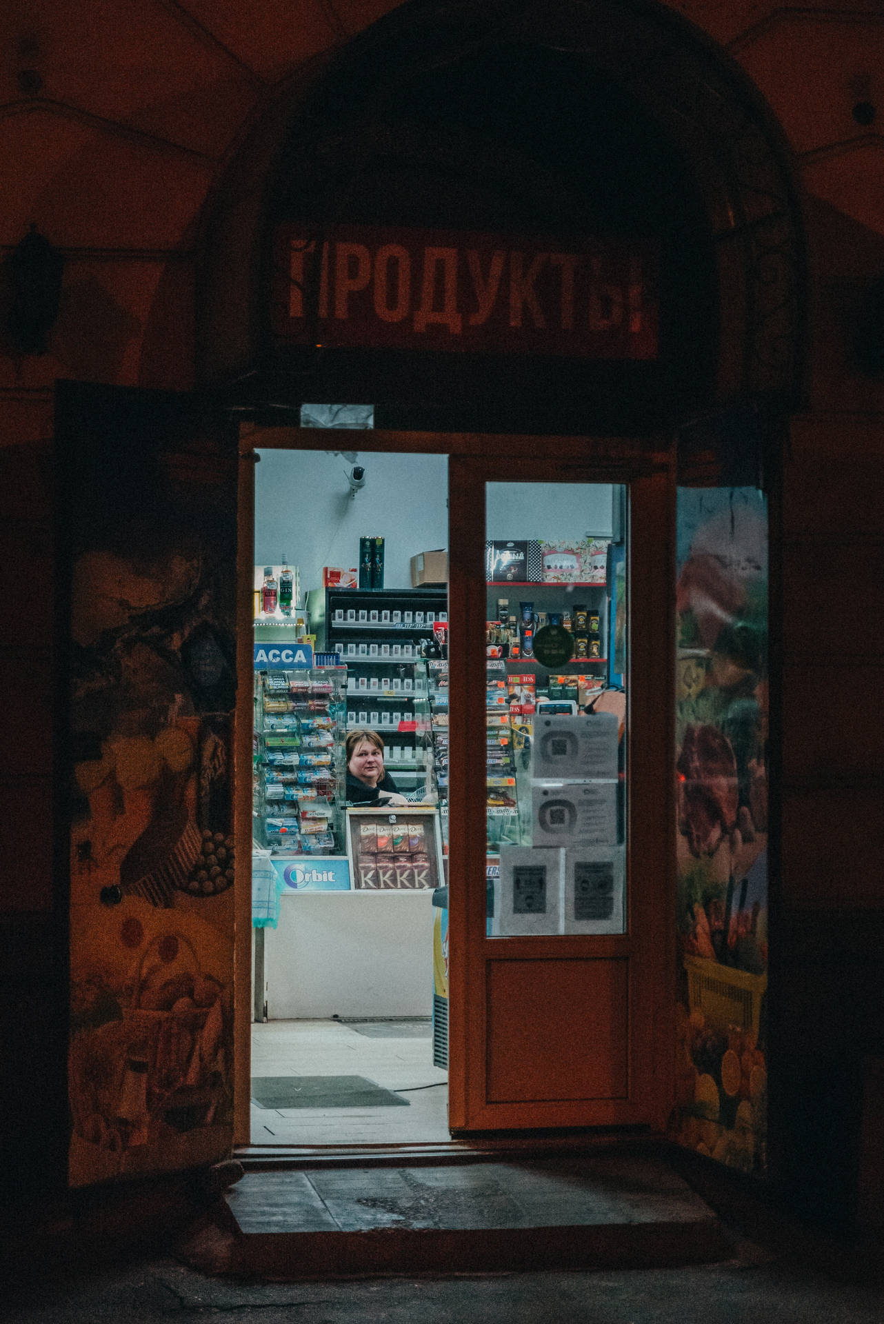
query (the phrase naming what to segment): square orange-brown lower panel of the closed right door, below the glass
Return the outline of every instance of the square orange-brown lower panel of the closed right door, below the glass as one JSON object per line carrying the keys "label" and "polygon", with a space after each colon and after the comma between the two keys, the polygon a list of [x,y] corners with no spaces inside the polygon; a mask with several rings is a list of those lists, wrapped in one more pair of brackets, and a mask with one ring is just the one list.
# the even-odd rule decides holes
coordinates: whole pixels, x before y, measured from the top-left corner
{"label": "square orange-brown lower panel of the closed right door, below the glass", "polygon": [[625,1099],[626,960],[490,961],[490,1103]]}

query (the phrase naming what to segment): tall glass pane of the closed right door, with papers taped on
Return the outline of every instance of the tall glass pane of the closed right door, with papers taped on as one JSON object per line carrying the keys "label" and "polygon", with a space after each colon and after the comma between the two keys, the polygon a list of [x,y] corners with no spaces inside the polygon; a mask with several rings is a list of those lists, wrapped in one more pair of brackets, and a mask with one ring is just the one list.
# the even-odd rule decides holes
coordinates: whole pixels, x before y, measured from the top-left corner
{"label": "tall glass pane of the closed right door, with papers taped on", "polygon": [[486,932],[621,933],[627,491],[486,489]]}

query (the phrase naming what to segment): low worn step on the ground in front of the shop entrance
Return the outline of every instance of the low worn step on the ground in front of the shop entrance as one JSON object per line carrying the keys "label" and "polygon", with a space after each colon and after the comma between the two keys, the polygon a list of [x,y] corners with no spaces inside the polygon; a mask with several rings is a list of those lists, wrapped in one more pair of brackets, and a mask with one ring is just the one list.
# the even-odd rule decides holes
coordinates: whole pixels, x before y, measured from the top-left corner
{"label": "low worn step on the ground in front of the shop entrance", "polygon": [[[709,1206],[647,1153],[257,1170],[225,1202],[202,1267],[262,1278],[648,1268],[732,1253]],[[199,1238],[185,1258],[200,1262]]]}

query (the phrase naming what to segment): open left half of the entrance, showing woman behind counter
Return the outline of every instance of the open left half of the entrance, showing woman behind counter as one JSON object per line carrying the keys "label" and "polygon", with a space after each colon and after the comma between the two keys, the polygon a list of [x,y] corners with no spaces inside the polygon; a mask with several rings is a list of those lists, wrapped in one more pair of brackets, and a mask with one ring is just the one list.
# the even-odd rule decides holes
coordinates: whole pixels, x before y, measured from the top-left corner
{"label": "open left half of the entrance, showing woman behind counter", "polygon": [[443,1143],[447,459],[306,408],[255,466],[251,1143]]}

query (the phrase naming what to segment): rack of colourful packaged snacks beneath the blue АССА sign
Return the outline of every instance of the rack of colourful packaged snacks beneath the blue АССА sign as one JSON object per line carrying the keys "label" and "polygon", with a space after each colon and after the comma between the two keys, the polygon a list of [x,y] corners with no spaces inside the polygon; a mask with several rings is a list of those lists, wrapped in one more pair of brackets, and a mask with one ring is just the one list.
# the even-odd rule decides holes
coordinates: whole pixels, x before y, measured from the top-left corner
{"label": "rack of colourful packaged snacks beneath the blue \u0410\u0421\u0421\u0410 sign", "polygon": [[271,853],[344,850],[344,667],[255,678],[255,839]]}

